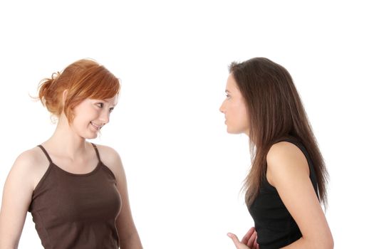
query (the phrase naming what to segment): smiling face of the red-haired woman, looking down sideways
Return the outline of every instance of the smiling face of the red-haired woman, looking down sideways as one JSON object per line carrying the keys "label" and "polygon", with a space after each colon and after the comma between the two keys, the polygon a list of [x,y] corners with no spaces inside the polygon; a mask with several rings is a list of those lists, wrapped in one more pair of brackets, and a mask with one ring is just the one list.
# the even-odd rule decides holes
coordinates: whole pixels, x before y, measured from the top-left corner
{"label": "smiling face of the red-haired woman, looking down sideways", "polygon": [[77,105],[74,112],[74,119],[71,128],[85,139],[98,137],[98,132],[108,124],[110,112],[113,111],[118,102],[118,95],[106,100],[85,99]]}

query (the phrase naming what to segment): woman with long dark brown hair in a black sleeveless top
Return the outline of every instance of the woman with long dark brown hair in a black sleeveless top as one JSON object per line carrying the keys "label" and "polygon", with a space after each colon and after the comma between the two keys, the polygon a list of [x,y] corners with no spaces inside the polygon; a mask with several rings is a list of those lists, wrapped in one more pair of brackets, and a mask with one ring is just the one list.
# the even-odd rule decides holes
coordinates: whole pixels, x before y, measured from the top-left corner
{"label": "woman with long dark brown hair in a black sleeveless top", "polygon": [[267,58],[232,63],[219,108],[227,132],[249,137],[244,183],[254,219],[239,248],[333,248],[321,208],[328,173],[289,72]]}

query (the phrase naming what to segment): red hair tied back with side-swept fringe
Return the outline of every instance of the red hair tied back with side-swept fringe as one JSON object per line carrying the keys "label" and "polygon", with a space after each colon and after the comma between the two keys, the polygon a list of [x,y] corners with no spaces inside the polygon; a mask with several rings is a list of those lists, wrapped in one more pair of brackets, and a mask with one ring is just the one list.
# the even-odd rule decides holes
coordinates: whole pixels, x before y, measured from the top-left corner
{"label": "red hair tied back with side-swept fringe", "polygon": [[[65,102],[63,92],[67,90]],[[73,109],[87,98],[105,100],[120,92],[120,80],[94,60],[78,60],[51,78],[41,80],[38,97],[53,115],[62,112],[69,124],[74,119]]]}

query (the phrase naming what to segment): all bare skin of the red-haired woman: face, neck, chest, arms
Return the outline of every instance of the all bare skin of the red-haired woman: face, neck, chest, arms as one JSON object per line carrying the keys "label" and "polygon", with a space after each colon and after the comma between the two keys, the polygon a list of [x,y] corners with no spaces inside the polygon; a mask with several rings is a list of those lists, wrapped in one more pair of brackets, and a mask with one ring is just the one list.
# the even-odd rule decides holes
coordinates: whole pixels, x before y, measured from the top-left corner
{"label": "all bare skin of the red-haired woman: face, neck, chest, arms", "polygon": [[[66,92],[64,92],[64,95]],[[74,109],[75,118],[69,125],[61,114],[52,137],[42,145],[54,164],[73,174],[93,171],[98,164],[93,146],[85,139],[93,139],[110,120],[110,112],[117,104],[118,95],[106,100],[86,99]],[[63,144],[63,146],[61,146]],[[125,171],[120,156],[114,149],[98,145],[103,164],[109,167],[122,198],[122,207],[116,221],[120,248],[142,248],[133,222],[128,198]],[[0,249],[18,248],[33,190],[48,168],[49,162],[40,148],[23,152],[11,167],[4,185],[0,211]]]}

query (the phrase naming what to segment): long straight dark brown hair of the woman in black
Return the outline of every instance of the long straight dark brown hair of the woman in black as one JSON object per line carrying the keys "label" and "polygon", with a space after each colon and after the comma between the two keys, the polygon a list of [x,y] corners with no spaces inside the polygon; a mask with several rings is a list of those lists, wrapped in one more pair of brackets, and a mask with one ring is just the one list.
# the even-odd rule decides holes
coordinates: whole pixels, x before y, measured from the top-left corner
{"label": "long straight dark brown hair of the woman in black", "polygon": [[306,148],[316,171],[320,201],[327,204],[328,172],[289,72],[267,58],[232,63],[234,76],[249,115],[251,170],[244,180],[246,205],[250,206],[266,177],[266,154],[271,145],[295,137]]}

